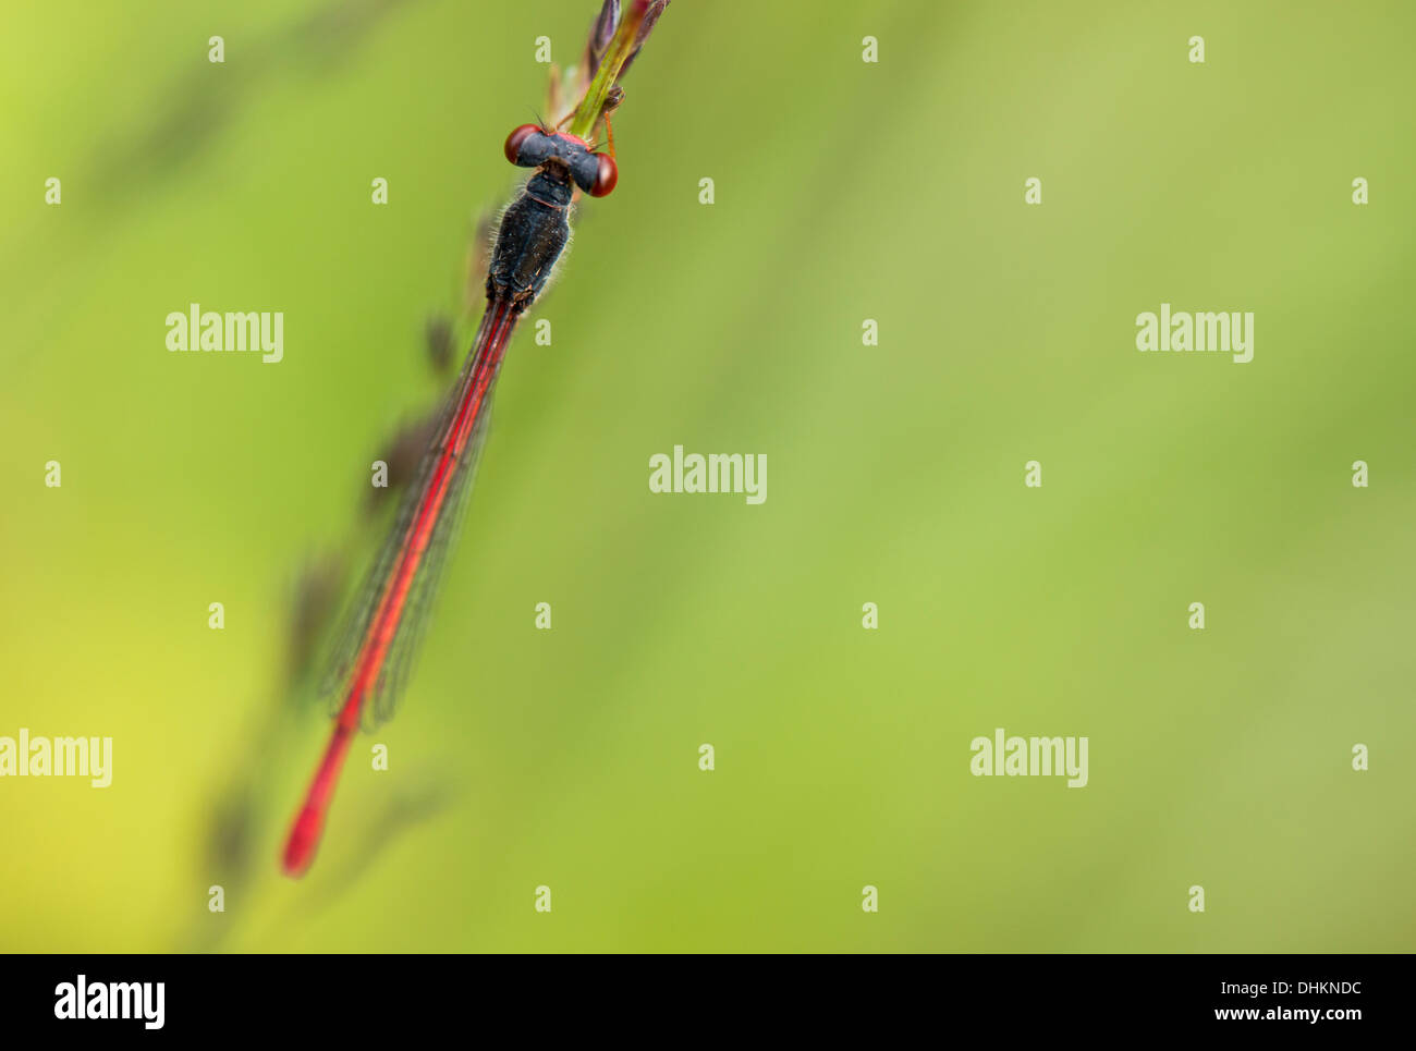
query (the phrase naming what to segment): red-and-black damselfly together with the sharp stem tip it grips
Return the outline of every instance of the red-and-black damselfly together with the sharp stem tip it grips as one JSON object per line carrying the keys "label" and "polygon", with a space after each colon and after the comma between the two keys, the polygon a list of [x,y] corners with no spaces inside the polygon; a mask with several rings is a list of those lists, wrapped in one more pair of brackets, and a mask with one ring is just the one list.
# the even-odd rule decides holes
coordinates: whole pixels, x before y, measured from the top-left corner
{"label": "red-and-black damselfly together with the sharp stem tip it grips", "polygon": [[595,152],[588,137],[602,122],[607,129],[607,113],[623,98],[617,79],[667,3],[636,0],[620,18],[619,0],[607,0],[586,52],[593,79],[562,122],[571,129],[523,125],[507,136],[507,160],[535,171],[503,212],[481,324],[394,530],[351,608],[326,678],[337,698],[336,724],[286,840],[283,860],[290,875],[300,875],[314,858],[354,735],[361,725],[377,725],[394,712],[467,504],[507,343],[569,239],[568,214],[576,190],[603,197],[615,188],[619,170],[613,156]]}

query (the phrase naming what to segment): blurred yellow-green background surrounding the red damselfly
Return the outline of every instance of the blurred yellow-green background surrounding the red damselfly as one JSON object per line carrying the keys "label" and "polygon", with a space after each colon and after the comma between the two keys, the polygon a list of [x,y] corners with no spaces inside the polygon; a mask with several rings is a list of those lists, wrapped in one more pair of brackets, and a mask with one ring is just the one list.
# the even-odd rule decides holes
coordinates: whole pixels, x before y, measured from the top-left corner
{"label": "blurred yellow-green background surrounding the red damselfly", "polygon": [[[1416,948],[1400,3],[675,0],[402,710],[278,874],[296,581],[377,540],[535,38],[595,8],[6,6],[0,734],[115,771],[0,782],[0,948]],[[190,302],[285,361],[170,354]],[[1253,361],[1137,353],[1161,302],[1255,312]],[[651,494],[674,445],[767,501]],[[1090,785],[970,776],[994,727]]]}

